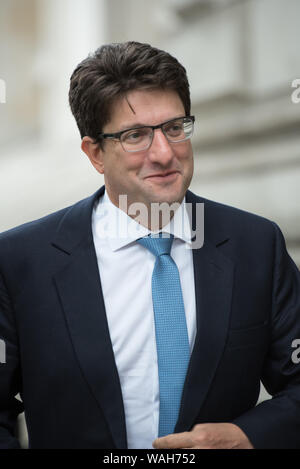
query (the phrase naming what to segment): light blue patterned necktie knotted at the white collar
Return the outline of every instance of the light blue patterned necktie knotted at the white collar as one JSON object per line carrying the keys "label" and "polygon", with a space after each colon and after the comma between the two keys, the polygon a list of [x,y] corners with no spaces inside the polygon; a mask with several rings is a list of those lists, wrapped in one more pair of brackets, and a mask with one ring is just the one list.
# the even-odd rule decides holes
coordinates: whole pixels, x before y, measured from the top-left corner
{"label": "light blue patterned necktie knotted at the white collar", "polygon": [[184,304],[177,265],[170,256],[173,235],[146,237],[137,242],[156,256],[152,274],[159,375],[158,436],[174,433],[190,358]]}

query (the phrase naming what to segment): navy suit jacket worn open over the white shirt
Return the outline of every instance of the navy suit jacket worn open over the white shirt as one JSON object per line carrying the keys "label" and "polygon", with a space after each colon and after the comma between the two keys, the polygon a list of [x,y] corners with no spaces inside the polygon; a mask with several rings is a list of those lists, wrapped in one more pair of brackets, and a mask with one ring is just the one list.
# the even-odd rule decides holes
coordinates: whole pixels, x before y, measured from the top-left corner
{"label": "navy suit jacket worn open over the white shirt", "polygon": [[[23,407],[31,448],[127,446],[91,230],[102,193],[0,235],[1,448],[18,447]],[[300,448],[300,274],[283,236],[190,191],[186,201],[205,203],[205,238],[193,250],[197,335],[175,431],[233,422],[256,448]],[[273,398],[255,406],[260,380]]]}

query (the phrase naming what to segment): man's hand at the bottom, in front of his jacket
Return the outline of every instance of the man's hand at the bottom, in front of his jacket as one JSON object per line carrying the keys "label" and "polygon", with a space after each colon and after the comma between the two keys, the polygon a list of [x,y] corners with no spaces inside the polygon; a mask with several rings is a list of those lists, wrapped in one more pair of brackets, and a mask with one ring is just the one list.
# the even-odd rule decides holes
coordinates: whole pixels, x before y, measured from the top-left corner
{"label": "man's hand at the bottom, in front of his jacket", "polygon": [[191,431],[156,438],[155,449],[253,449],[245,433],[233,423],[201,423]]}

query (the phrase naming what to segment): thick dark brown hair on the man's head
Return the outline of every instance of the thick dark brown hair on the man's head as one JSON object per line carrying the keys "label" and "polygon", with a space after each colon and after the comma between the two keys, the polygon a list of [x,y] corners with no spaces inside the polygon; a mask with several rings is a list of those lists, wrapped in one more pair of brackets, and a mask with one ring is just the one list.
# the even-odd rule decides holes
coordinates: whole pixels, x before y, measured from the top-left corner
{"label": "thick dark brown hair on the man's head", "polygon": [[134,41],[107,44],[83,60],[71,76],[69,103],[81,138],[97,140],[110,120],[113,102],[136,89],[174,90],[190,114],[186,70],[175,57]]}

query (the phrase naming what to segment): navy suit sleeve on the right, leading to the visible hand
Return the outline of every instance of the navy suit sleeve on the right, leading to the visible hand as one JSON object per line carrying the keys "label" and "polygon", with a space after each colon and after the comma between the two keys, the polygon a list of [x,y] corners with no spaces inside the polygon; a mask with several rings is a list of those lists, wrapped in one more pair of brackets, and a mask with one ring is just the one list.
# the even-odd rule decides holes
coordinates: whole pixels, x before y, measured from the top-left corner
{"label": "navy suit sleeve on the right, leading to the visible hand", "polygon": [[300,339],[300,273],[287,253],[281,231],[273,225],[271,342],[262,373],[272,399],[232,423],[246,433],[255,448],[299,449],[300,363],[293,359],[292,344]]}

